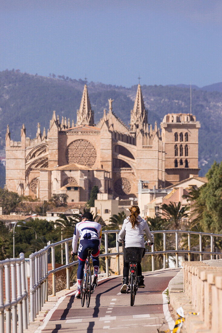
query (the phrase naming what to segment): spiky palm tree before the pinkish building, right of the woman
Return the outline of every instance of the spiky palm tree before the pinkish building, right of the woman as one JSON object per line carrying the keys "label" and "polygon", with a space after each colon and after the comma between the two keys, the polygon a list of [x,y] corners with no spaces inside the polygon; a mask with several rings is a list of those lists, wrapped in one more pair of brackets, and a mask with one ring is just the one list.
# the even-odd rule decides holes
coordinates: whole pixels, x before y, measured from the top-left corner
{"label": "spiky palm tree before the pinkish building, right of the woman", "polygon": [[166,217],[166,221],[168,222],[168,227],[173,230],[181,228],[182,219],[188,217],[186,211],[189,210],[189,206],[181,207],[180,201],[178,204],[172,201],[168,205],[164,203],[161,209],[162,215]]}

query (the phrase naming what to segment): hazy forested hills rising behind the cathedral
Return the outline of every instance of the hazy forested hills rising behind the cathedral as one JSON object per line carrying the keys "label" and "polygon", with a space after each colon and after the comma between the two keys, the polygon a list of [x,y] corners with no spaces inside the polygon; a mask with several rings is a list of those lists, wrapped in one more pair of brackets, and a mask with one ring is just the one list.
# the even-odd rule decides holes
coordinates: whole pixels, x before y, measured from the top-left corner
{"label": "hazy forested hills rising behind the cathedral", "polygon": [[[20,140],[20,130],[24,123],[27,136],[34,138],[37,122],[46,130],[52,117],[52,111],[76,121],[76,112],[80,106],[85,82],[65,76],[52,75],[42,77],[20,73],[19,70],[0,72],[0,156],[5,155],[5,132],[9,124],[12,140]],[[222,83],[215,86],[220,89]],[[222,93],[192,88],[192,110],[201,123],[199,131],[199,166],[200,175],[204,175],[214,160],[222,160]],[[89,97],[95,112],[95,122],[108,109],[108,98],[114,99],[113,111],[126,124],[130,120],[137,85],[131,88],[88,83]],[[212,88],[213,89],[213,88]],[[148,120],[160,125],[164,115],[171,112],[189,113],[189,86],[142,86]],[[3,172],[0,169],[0,177]]]}

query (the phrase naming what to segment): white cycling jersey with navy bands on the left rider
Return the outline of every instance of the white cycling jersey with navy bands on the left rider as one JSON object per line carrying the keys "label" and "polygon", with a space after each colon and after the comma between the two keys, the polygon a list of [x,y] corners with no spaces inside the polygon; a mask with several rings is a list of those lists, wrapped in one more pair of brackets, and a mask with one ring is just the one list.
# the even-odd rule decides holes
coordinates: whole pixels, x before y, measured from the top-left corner
{"label": "white cycling jersey with navy bands on the left rider", "polygon": [[79,235],[80,235],[80,241],[83,239],[99,240],[99,249],[100,249],[101,237],[102,237],[101,224],[94,222],[94,221],[84,221],[84,222],[78,222],[76,224],[73,239],[72,239],[73,253],[76,253],[76,251],[77,251],[77,242],[79,239]]}

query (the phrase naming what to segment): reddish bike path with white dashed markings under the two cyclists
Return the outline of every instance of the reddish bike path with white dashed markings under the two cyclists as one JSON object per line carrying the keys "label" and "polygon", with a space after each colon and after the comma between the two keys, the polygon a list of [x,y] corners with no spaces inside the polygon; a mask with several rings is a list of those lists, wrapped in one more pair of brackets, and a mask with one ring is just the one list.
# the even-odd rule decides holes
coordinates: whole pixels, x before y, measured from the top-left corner
{"label": "reddish bike path with white dashed markings under the two cyclists", "polygon": [[58,305],[42,333],[157,332],[169,328],[163,313],[162,292],[178,270],[145,273],[145,289],[139,288],[135,304],[130,294],[120,294],[122,277],[99,282],[89,308],[68,295]]}

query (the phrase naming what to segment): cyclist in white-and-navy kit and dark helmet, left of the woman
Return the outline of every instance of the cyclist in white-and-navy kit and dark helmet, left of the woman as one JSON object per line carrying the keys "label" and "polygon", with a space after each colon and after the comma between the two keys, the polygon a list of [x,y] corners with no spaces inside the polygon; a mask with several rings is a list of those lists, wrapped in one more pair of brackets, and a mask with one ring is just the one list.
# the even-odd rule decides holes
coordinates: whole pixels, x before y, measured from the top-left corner
{"label": "cyclist in white-and-navy kit and dark helmet, left of the woman", "polygon": [[102,236],[102,227],[99,223],[92,221],[93,216],[90,212],[82,215],[81,222],[78,222],[75,227],[71,254],[77,254],[77,242],[80,235],[78,260],[79,266],[77,270],[77,292],[75,298],[81,298],[81,283],[83,271],[88,255],[88,248],[93,248],[91,257],[93,260],[94,278],[93,284],[97,286],[98,269],[99,269],[99,253]]}

